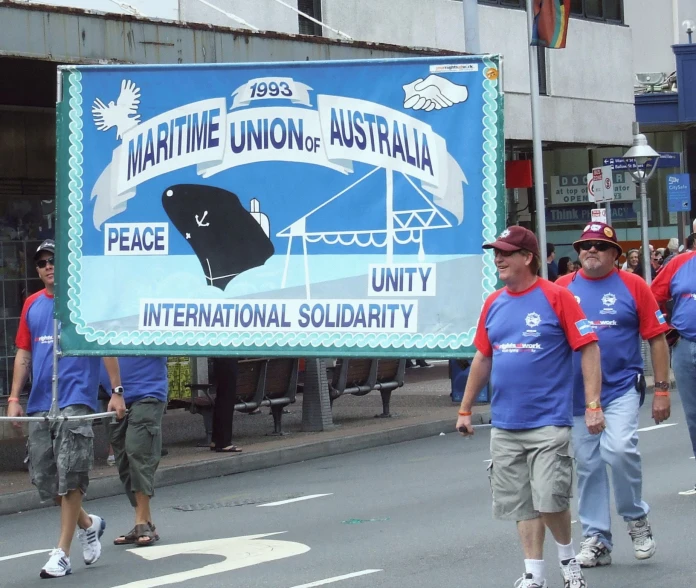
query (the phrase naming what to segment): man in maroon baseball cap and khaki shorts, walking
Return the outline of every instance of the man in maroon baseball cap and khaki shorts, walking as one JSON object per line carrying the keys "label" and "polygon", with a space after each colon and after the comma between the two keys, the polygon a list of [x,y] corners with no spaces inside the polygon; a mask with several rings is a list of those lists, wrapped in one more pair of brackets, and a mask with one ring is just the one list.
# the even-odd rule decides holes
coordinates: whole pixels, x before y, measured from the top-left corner
{"label": "man in maroon baseball cap and khaki shorts, walking", "polygon": [[[573,351],[580,351],[587,403],[598,404],[597,335],[567,289],[537,277],[542,260],[534,233],[509,227],[483,247],[493,250],[505,287],[483,305],[457,429],[473,434],[471,406],[490,379],[493,514],[517,522],[525,555],[525,573],[515,586],[548,586],[543,560],[548,527],[564,587],[584,588],[570,530],[571,360]],[[586,422],[590,431],[601,432],[602,411],[588,408]]]}

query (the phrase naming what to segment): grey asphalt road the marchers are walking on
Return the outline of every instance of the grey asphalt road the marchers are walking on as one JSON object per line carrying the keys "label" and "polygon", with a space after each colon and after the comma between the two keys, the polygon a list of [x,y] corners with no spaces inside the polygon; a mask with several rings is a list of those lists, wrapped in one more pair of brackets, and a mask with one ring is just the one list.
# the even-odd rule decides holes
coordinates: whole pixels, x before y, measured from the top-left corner
{"label": "grey asphalt road the marchers are walking on", "polygon": [[[696,496],[678,492],[693,486],[696,467],[681,407],[674,414],[674,426],[641,433],[657,554],[635,560],[625,524],[615,519],[614,564],[589,570],[591,587],[694,583]],[[641,426],[651,425],[645,407]],[[93,501],[89,511],[108,525],[101,560],[86,567],[76,541],[73,575],[50,582],[94,588],[176,582],[191,588],[512,587],[523,571],[522,555],[515,526],[490,514],[488,440],[485,429],[471,440],[448,434],[168,487],[154,502],[162,540],[150,548],[111,544],[132,527],[125,498]],[[49,550],[57,525],[57,509],[0,519],[0,586],[45,586],[39,570],[46,553],[26,553]],[[578,524],[574,538],[578,544]],[[546,559],[549,588],[559,587],[550,537]]]}

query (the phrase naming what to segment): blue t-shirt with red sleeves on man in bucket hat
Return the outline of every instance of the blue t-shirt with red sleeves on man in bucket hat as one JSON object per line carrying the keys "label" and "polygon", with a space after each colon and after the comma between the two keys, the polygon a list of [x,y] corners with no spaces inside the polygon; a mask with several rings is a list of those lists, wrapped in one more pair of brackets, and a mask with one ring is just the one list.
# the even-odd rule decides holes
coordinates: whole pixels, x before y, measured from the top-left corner
{"label": "blue t-shirt with red sleeves on man in bucket hat", "polygon": [[[640,337],[652,339],[669,330],[655,297],[643,278],[612,271],[600,279],[581,270],[556,282],[570,290],[599,337],[602,356],[602,406],[608,406],[636,385],[643,372]],[[580,354],[573,355],[573,414],[585,414],[585,387]]]}

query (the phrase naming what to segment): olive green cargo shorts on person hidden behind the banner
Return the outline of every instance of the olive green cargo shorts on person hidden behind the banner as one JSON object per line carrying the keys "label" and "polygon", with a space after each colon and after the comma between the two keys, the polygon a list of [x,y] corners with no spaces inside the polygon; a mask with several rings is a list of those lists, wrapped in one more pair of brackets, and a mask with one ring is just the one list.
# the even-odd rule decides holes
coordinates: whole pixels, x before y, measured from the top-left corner
{"label": "olive green cargo shorts on person hidden behind the banner", "polygon": [[162,415],[165,403],[143,398],[128,406],[128,414],[109,425],[118,475],[130,503],[135,493],[155,494],[155,472],[162,455]]}

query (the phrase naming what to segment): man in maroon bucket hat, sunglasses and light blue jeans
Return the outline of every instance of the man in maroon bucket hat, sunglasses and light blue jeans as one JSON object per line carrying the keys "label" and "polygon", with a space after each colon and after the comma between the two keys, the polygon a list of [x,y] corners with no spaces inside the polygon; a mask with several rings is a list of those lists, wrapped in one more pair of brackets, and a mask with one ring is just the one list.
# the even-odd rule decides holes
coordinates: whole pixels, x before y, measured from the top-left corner
{"label": "man in maroon bucket hat, sunglasses and light blue jeans", "polygon": [[640,338],[650,343],[655,371],[652,416],[655,423],[669,418],[669,327],[643,279],[619,271],[622,250],[616,231],[603,223],[585,227],[573,246],[582,269],[557,282],[568,288],[599,337],[602,356],[602,395],[606,429],[592,435],[582,422],[585,413],[580,358],[573,358],[575,427],[573,447],[578,472],[579,515],[585,537],[576,559],[583,567],[611,563],[611,496],[607,466],[611,468],[616,510],[628,525],[637,559],[655,553],[648,522],[649,507],[642,498],[642,467],[638,451],[638,416],[645,392]]}

